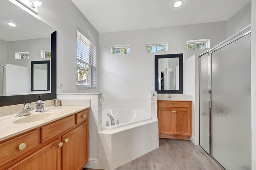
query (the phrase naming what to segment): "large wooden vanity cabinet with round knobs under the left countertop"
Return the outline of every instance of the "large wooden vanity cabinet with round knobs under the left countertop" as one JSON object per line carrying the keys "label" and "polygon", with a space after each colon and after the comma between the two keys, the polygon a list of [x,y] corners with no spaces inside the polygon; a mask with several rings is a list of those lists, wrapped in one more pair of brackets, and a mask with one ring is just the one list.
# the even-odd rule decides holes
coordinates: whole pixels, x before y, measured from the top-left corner
{"label": "large wooden vanity cabinet with round knobs under the left countertop", "polygon": [[0,170],[81,170],[88,139],[86,109],[0,142]]}

